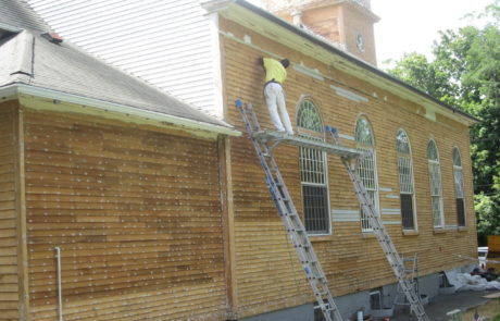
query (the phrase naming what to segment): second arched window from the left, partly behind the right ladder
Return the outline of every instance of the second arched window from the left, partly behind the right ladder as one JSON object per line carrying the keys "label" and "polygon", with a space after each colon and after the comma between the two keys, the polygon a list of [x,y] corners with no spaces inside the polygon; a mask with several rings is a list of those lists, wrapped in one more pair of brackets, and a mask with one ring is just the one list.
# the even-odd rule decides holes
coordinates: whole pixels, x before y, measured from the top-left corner
{"label": "second arched window from the left, partly behind the right ladder", "polygon": [[[358,163],[358,174],[360,175],[373,205],[378,209],[378,183],[374,148],[375,139],[373,138],[372,127],[365,118],[360,118],[355,123],[354,131],[357,148],[363,151],[367,151],[366,156],[361,158]],[[362,232],[372,231],[370,221],[363,211],[361,211],[361,230]]]}

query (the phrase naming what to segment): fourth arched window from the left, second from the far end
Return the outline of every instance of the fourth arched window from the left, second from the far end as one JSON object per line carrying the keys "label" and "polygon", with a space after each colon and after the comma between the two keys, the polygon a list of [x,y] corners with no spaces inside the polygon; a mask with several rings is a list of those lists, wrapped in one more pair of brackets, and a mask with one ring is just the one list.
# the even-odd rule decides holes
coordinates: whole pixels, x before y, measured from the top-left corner
{"label": "fourth arched window from the left, second from the far end", "polygon": [[435,229],[445,227],[442,211],[442,190],[441,190],[441,168],[439,164],[439,153],[434,140],[427,144],[427,160],[430,181],[430,205],[433,210],[433,221]]}

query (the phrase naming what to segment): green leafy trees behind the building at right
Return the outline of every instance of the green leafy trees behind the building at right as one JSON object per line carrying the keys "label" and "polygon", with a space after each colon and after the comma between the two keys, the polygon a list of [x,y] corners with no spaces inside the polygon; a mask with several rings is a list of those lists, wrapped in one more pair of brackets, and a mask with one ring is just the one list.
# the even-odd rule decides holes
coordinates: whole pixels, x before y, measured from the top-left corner
{"label": "green leafy trees behind the building at right", "polygon": [[433,60],[407,54],[388,73],[480,120],[471,128],[477,230],[500,234],[500,0],[474,18],[487,23],[440,32]]}

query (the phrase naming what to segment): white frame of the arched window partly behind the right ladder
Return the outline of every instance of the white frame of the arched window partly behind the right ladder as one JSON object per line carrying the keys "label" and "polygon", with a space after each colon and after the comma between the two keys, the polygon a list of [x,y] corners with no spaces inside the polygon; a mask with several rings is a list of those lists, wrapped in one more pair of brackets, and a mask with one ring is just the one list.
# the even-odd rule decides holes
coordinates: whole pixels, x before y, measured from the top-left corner
{"label": "white frame of the arched window partly behind the right ladder", "polygon": [[[370,136],[371,136],[371,143],[363,143],[360,141],[359,135],[358,135],[358,124],[360,121],[364,120],[367,124],[367,128],[370,129]],[[366,177],[366,170],[370,169],[363,169],[363,160],[361,160],[358,163],[358,174],[360,175],[361,181],[363,182],[364,187],[366,188],[366,192],[370,194],[373,194],[373,199],[374,199],[374,206],[375,206],[375,214],[379,213],[379,199],[378,199],[378,172],[377,172],[377,155],[376,155],[376,149],[375,149],[375,135],[373,134],[373,127],[368,121],[368,119],[365,115],[361,115],[358,118],[354,124],[354,140],[355,140],[355,148],[358,150],[362,151],[367,151],[368,155],[372,156],[372,168],[373,168],[373,187],[367,186],[368,184],[365,184],[365,177]],[[370,220],[364,218],[363,210],[360,209],[360,223],[361,223],[361,232],[362,233],[371,233],[373,232],[373,229],[370,226]]]}

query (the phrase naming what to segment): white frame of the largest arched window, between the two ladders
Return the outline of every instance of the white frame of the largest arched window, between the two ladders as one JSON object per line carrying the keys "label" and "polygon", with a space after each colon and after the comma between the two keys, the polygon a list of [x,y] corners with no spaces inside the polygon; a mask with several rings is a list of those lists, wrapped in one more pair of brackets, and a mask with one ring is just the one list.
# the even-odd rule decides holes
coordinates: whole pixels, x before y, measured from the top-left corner
{"label": "white frame of the largest arched window, between the two ladders", "polygon": [[[305,102],[309,102],[312,107],[315,108],[315,111],[317,113],[317,116],[318,116],[318,124],[316,124],[316,127],[317,128],[308,128],[308,127],[301,127],[299,126],[299,123],[300,123],[300,118],[299,118],[299,113],[300,113],[300,109],[302,108],[302,106],[305,103]],[[299,136],[303,136],[303,137],[307,137],[307,138],[310,138],[310,139],[317,139],[317,140],[324,140],[324,135],[322,134],[323,133],[323,121],[321,119],[321,113],[320,113],[320,110],[316,106],[316,103],[314,103],[314,101],[308,97],[308,96],[303,96],[300,100],[299,100],[299,103],[298,103],[298,108],[297,108],[297,129],[298,129],[298,134]],[[317,132],[317,131],[321,131],[321,132]],[[321,161],[323,162],[323,181],[321,183],[317,183],[317,182],[304,182],[302,180],[302,156],[303,155],[320,155],[321,156]],[[325,235],[330,235],[332,234],[332,231],[333,231],[333,226],[332,226],[332,214],[330,214],[330,200],[329,200],[329,184],[328,184],[328,163],[327,163],[327,157],[326,157],[326,153],[324,151],[318,151],[316,149],[310,149],[310,148],[304,148],[304,147],[301,147],[300,150],[299,150],[299,170],[300,170],[300,185],[301,185],[301,193],[302,193],[302,206],[304,205],[304,195],[303,195],[303,190],[304,190],[304,186],[321,186],[321,187],[324,187],[325,188],[325,194],[326,194],[326,222],[327,222],[327,231],[326,232],[321,232],[321,231],[307,231],[308,235],[310,236],[325,236]],[[303,210],[303,213],[304,213],[304,225],[307,224],[305,223],[305,209]]]}

